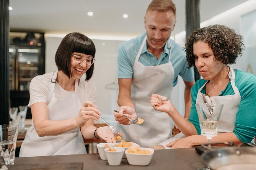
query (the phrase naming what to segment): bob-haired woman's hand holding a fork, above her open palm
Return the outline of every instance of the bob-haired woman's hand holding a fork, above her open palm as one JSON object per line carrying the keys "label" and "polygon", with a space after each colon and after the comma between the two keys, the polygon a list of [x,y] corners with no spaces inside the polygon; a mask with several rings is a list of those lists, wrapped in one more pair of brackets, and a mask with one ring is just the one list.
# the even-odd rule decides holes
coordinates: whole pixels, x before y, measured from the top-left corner
{"label": "bob-haired woman's hand holding a fork, above her open palm", "polygon": [[89,119],[98,120],[101,112],[97,109],[97,106],[90,101],[85,101],[80,108],[77,116],[77,125],[82,127]]}

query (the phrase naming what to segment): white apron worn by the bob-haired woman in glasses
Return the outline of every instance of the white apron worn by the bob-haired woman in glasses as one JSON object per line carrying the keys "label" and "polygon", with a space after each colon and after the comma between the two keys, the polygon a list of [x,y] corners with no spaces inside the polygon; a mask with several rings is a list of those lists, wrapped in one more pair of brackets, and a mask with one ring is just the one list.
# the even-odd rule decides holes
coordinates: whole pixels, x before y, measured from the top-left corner
{"label": "white apron worn by the bob-haired woman in glasses", "polygon": [[[64,99],[55,98],[54,87],[58,71],[55,71],[51,79],[51,88],[47,97],[47,111],[49,120],[65,120],[75,118],[82,106],[77,94],[78,81],[75,80],[75,93]],[[85,154],[85,144],[80,128],[57,136],[39,137],[34,123],[28,129],[22,143],[20,157],[51,156],[66,154]]]}

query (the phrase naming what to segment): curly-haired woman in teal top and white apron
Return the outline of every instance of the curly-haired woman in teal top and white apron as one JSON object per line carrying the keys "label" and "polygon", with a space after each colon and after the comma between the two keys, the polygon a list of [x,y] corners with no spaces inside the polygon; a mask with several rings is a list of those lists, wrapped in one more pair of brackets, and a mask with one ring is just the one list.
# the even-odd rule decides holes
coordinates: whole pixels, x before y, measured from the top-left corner
{"label": "curly-haired woman in teal top and white apron", "polygon": [[186,53],[189,67],[195,66],[203,79],[191,88],[192,106],[189,120],[179,114],[171,101],[161,101],[164,96],[152,94],[151,105],[166,112],[181,133],[154,146],[154,149],[189,148],[207,143],[200,135],[195,104],[221,103],[218,135],[211,143],[234,142],[235,145],[254,143],[256,135],[256,75],[232,69],[242,53],[242,37],[235,30],[222,25],[197,29],[189,35]]}

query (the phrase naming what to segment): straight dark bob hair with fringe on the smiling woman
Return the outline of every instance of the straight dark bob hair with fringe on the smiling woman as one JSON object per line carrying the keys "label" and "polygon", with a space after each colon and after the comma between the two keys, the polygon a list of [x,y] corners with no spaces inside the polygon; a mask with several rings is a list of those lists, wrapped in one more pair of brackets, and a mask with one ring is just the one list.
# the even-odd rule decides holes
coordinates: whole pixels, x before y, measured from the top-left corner
{"label": "straight dark bob hair with fringe on the smiling woman", "polygon": [[[58,70],[64,72],[68,78],[71,77],[70,58],[73,52],[91,55],[95,58],[96,49],[92,40],[81,33],[72,32],[63,38],[55,54],[55,63]],[[86,71],[86,81],[91,79],[93,68],[94,64]]]}

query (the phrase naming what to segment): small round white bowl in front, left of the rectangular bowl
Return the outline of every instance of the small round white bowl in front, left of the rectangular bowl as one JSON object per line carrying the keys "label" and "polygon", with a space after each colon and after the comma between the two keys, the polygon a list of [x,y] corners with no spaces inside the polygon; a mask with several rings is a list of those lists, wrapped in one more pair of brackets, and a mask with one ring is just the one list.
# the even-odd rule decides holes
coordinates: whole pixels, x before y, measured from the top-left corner
{"label": "small round white bowl in front, left of the rectangular bowl", "polygon": [[121,147],[111,147],[111,148],[116,149],[116,151],[108,151],[109,148],[104,149],[108,159],[108,164],[112,166],[120,165],[122,156],[124,154],[124,148],[121,148]]}

